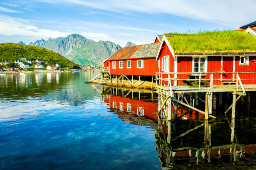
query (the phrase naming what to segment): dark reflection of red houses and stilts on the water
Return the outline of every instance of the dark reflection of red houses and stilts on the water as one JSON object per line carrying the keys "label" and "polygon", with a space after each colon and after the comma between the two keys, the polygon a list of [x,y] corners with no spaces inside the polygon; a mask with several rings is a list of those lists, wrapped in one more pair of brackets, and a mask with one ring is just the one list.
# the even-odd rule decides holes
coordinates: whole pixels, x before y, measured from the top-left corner
{"label": "dark reflection of red houses and stilts on the water", "polygon": [[237,104],[236,119],[218,111],[219,118],[204,120],[200,113],[178,108],[168,121],[164,110],[158,114],[155,92],[96,88],[101,88],[102,103],[107,103],[110,112],[127,123],[156,130],[156,151],[163,170],[256,168],[256,118],[253,110],[248,112],[248,105]]}

